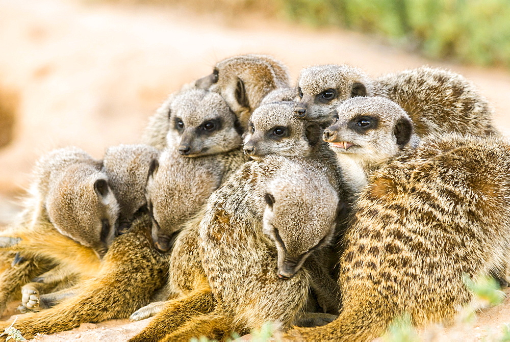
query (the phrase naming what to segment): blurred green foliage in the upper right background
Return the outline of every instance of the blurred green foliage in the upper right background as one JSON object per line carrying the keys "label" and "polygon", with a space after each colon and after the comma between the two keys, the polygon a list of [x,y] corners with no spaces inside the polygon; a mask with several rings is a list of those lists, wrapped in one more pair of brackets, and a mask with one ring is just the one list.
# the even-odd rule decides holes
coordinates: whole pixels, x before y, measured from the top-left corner
{"label": "blurred green foliage in the upper right background", "polygon": [[432,58],[510,67],[508,0],[279,0],[292,19],[405,43]]}

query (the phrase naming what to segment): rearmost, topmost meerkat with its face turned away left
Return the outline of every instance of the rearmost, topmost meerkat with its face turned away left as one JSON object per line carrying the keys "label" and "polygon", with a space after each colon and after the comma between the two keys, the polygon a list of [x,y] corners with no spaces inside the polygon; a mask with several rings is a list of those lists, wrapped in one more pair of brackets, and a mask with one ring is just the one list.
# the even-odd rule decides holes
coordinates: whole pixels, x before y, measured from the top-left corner
{"label": "rearmost, topmost meerkat with its face turned away left", "polygon": [[271,56],[240,55],[216,63],[213,73],[195,85],[221,94],[246,129],[251,112],[264,96],[273,89],[288,87],[289,80],[287,67]]}

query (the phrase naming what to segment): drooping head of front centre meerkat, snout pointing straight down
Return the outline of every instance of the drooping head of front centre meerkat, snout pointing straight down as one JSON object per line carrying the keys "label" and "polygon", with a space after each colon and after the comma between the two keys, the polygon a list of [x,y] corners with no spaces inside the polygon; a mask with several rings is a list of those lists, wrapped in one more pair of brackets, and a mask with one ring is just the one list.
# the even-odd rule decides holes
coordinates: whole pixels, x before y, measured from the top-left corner
{"label": "drooping head of front centre meerkat, snout pointing straight down", "polygon": [[331,242],[339,204],[319,168],[289,165],[272,177],[264,196],[263,230],[276,246],[282,279],[293,277],[311,253]]}

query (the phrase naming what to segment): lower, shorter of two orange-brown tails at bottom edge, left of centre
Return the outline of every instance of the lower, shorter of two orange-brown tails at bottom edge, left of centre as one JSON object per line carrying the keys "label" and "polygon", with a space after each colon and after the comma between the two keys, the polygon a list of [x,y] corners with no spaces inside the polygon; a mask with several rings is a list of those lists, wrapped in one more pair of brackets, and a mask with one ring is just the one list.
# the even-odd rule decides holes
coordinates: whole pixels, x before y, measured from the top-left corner
{"label": "lower, shorter of two orange-brown tails at bottom edge, left of centre", "polygon": [[193,337],[220,338],[223,332],[231,327],[231,324],[232,318],[218,311],[213,311],[208,314],[199,315],[193,320],[186,322],[179,329],[166,335],[165,338],[161,339],[161,342],[189,341]]}

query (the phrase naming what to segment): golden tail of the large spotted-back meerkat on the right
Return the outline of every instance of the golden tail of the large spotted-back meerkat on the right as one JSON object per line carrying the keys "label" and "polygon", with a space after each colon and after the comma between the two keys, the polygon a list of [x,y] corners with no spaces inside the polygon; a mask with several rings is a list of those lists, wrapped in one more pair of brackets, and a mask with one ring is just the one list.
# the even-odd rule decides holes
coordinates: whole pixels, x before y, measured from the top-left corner
{"label": "golden tail of the large spotted-back meerkat on the right", "polygon": [[360,295],[347,300],[338,319],[316,328],[294,328],[284,340],[370,341],[383,334],[395,318],[392,304],[377,294],[360,289]]}

